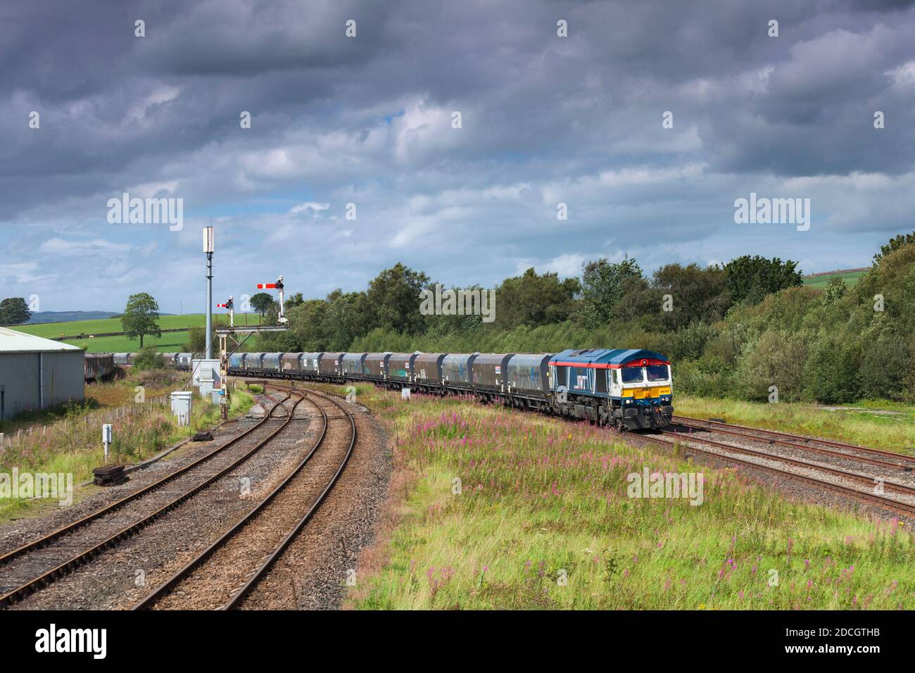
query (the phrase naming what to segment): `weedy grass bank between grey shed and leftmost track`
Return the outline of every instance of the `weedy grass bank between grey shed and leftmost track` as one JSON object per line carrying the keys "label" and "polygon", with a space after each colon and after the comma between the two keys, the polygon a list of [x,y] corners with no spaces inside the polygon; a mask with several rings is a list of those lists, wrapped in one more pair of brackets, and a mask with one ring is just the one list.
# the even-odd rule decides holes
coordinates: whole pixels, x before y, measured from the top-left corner
{"label": "weedy grass bank between grey shed and leftmost track", "polygon": [[[75,405],[59,416],[42,414],[23,419],[10,427],[5,424],[5,447],[0,451],[0,472],[12,474],[63,473],[72,474],[72,483],[92,478],[92,468],[103,464],[102,424],[113,425],[113,445],[109,462],[134,463],[180,440],[199,429],[211,428],[220,422],[220,409],[209,399],[195,395],[190,426],[179,427],[172,416],[168,393],[189,389],[185,377],[170,371],[141,372],[121,381],[103,385],[87,385],[87,397],[93,396],[99,407],[92,404]],[[171,385],[169,385],[171,384]],[[136,400],[137,385],[144,385],[145,401]],[[232,391],[230,418],[247,412],[253,396],[239,385]],[[27,427],[30,431],[18,430]],[[58,505],[58,501],[0,499],[0,521],[25,516],[36,505]]]}

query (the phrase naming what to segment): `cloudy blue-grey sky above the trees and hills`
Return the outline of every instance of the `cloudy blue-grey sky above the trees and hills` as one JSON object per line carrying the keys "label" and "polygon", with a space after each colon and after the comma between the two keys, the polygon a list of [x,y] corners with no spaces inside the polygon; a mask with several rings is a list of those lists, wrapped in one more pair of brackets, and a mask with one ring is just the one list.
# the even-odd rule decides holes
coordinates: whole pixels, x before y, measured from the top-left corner
{"label": "cloudy blue-grey sky above the trees and hills", "polygon": [[[0,62],[0,298],[40,310],[204,310],[210,221],[214,303],[397,262],[815,273],[915,229],[912,2],[6,3]],[[809,228],[737,223],[751,193]]]}

